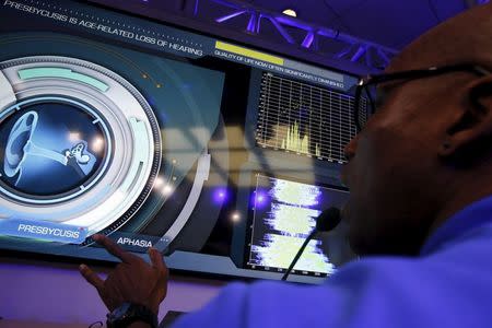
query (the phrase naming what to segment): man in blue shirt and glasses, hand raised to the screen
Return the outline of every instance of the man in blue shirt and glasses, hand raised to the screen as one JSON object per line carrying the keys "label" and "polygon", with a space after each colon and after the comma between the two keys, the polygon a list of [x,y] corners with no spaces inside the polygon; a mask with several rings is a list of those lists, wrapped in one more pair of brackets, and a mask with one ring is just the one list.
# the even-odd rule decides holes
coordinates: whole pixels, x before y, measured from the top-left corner
{"label": "man in blue shirt and glasses, hand raised to the screen", "polygon": [[[492,327],[492,4],[426,33],[386,73],[365,81],[386,96],[343,169],[343,219],[367,257],[318,286],[231,284],[176,327]],[[108,308],[156,312],[159,254],[148,266],[97,239],[124,261],[105,282],[81,266]]]}

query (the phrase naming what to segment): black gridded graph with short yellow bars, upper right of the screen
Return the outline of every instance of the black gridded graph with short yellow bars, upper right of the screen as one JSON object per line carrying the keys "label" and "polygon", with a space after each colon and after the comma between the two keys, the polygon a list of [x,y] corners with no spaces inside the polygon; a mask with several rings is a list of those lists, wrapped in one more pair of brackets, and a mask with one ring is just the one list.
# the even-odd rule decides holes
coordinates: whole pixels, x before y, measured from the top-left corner
{"label": "black gridded graph with short yellow bars, upper right of the screen", "polygon": [[[344,163],[343,149],[356,133],[353,106],[351,95],[265,72],[256,127],[257,144]],[[365,113],[365,98],[361,106]]]}

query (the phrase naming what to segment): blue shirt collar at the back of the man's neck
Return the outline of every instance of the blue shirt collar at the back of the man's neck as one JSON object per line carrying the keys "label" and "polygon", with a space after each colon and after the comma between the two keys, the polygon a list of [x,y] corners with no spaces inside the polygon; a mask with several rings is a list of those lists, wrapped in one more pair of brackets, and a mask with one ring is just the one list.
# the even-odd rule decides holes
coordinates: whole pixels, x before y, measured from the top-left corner
{"label": "blue shirt collar at the back of the man's neck", "polygon": [[492,196],[482,198],[464,208],[447,219],[425,242],[420,254],[427,255],[435,251],[446,242],[466,232],[492,223]]}

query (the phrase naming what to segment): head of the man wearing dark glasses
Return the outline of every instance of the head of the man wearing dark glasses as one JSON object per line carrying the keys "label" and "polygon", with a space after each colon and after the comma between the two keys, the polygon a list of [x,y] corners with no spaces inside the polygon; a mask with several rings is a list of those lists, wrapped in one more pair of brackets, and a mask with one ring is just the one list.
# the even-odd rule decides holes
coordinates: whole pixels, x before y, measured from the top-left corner
{"label": "head of the man wearing dark glasses", "polygon": [[[492,4],[424,34],[387,72],[475,63],[492,72]],[[450,214],[492,194],[492,74],[378,85],[387,95],[347,149],[344,216],[361,254],[417,254]]]}

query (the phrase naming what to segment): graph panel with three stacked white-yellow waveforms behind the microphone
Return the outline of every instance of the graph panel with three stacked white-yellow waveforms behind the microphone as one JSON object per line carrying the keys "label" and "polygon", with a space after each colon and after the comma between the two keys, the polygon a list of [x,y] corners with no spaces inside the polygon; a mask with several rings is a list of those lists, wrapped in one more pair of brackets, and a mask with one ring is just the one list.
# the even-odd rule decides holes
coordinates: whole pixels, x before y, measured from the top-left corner
{"label": "graph panel with three stacked white-yellow waveforms behind the microphone", "polygon": [[[305,238],[316,226],[316,218],[329,207],[329,189],[257,175],[254,191],[253,232],[248,265],[286,269]],[[307,245],[295,271],[330,274],[333,265],[321,239]]]}

